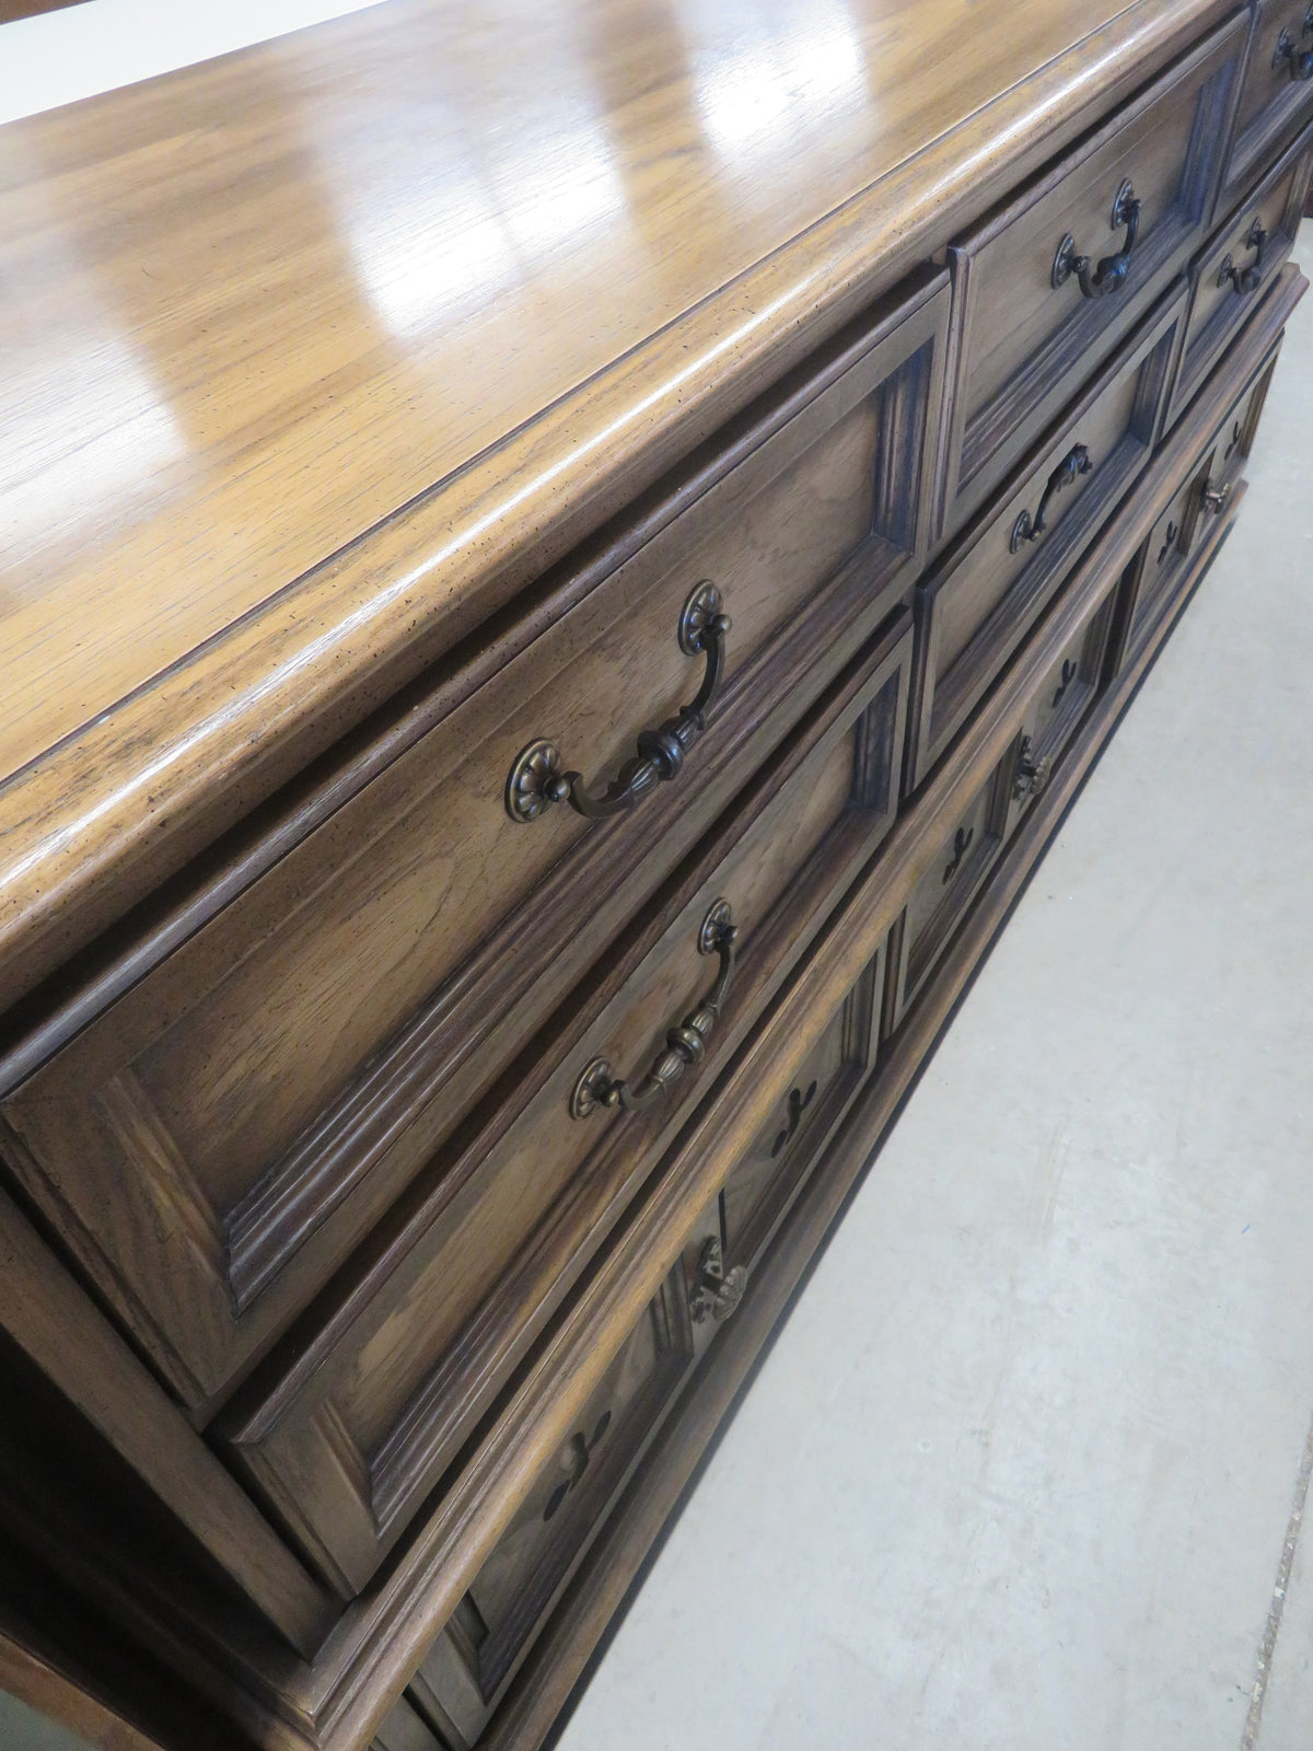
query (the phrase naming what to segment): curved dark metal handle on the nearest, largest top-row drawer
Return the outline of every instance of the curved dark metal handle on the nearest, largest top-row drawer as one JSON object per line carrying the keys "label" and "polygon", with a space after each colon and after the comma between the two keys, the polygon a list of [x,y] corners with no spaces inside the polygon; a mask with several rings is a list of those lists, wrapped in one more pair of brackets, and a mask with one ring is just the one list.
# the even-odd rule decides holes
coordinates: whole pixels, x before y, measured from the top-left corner
{"label": "curved dark metal handle on the nearest, largest top-row drawer", "polygon": [[685,756],[707,727],[711,707],[725,679],[725,637],[730,616],[723,613],[714,583],[702,581],[679,616],[679,650],[704,653],[707,672],[692,706],[667,718],[658,730],[639,730],[639,751],[604,790],[590,790],[581,772],[565,772],[555,742],[539,739],[522,748],[506,779],[506,812],[513,821],[536,821],[553,802],[567,802],[590,821],[632,809],[665,779],[678,777]]}

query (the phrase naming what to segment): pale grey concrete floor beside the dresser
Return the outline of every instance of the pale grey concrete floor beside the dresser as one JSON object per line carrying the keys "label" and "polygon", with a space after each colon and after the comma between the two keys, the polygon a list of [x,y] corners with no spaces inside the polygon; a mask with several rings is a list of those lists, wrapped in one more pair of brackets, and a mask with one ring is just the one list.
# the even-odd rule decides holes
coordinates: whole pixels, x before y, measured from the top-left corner
{"label": "pale grey concrete floor beside the dresser", "polygon": [[560,1751],[1313,1746],[1309,385]]}

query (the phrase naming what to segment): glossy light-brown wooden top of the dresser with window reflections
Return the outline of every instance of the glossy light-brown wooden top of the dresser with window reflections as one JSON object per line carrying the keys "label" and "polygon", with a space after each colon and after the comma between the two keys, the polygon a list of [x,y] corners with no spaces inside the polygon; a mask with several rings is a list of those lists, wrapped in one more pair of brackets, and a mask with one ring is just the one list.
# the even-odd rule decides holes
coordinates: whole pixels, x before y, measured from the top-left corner
{"label": "glossy light-brown wooden top of the dresser with window reflections", "polygon": [[0,128],[11,989],[1227,11],[392,0]]}

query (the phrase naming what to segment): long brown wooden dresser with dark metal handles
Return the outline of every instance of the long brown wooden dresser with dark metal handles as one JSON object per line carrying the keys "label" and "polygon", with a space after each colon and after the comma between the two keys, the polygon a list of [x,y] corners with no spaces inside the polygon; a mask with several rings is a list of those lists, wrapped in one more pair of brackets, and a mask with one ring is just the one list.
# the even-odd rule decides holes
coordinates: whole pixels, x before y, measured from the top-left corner
{"label": "long brown wooden dresser with dark metal handles", "polygon": [[1239,511],[1311,165],[1309,0],[390,0],[0,130],[0,1676],[541,1744]]}

